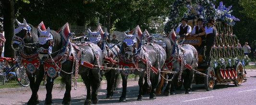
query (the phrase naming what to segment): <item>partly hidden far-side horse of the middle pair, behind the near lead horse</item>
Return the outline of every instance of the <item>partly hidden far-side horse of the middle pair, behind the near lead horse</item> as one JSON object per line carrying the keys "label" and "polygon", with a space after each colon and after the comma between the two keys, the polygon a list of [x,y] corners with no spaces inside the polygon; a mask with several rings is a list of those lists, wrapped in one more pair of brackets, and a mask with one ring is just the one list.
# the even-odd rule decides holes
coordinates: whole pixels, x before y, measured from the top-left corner
{"label": "partly hidden far-side horse of the middle pair, behind the near lead horse", "polygon": [[[107,99],[110,99],[113,94],[115,88],[118,87],[119,84],[119,74],[120,70],[117,70],[115,68],[118,68],[118,62],[119,58],[117,57],[117,54],[119,52],[119,47],[113,44],[108,44],[108,42],[105,40],[105,37],[108,37],[108,34],[101,33],[101,29],[98,30],[98,32],[91,32],[90,29],[88,29],[89,32],[89,40],[92,43],[95,43],[98,45],[98,47],[101,48],[103,54],[104,54],[104,67],[106,70],[101,70],[101,76],[105,76],[107,80]],[[103,34],[103,39],[101,38],[101,34]],[[111,69],[113,68],[113,69]],[[103,68],[105,69],[105,68]]]}

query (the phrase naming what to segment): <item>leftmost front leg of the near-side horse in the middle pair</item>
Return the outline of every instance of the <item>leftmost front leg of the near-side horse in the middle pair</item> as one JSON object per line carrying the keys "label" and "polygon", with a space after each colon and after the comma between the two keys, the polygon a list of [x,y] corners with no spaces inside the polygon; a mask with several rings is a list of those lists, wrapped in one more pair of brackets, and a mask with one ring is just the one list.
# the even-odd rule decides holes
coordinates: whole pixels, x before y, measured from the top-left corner
{"label": "leftmost front leg of the near-side horse in the middle pair", "polygon": [[119,99],[119,102],[126,101],[126,90],[127,90],[127,76],[126,74],[121,74],[122,76],[122,95]]}

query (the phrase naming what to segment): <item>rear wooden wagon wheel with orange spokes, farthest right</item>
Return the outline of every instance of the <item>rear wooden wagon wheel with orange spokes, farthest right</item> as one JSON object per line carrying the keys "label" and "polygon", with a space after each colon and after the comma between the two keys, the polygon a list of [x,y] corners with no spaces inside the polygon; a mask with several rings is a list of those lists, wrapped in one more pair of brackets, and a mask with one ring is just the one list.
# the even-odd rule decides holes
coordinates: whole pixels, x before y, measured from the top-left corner
{"label": "rear wooden wagon wheel with orange spokes, farthest right", "polygon": [[239,62],[235,68],[237,78],[234,80],[235,86],[240,86],[243,81],[243,66],[242,63]]}

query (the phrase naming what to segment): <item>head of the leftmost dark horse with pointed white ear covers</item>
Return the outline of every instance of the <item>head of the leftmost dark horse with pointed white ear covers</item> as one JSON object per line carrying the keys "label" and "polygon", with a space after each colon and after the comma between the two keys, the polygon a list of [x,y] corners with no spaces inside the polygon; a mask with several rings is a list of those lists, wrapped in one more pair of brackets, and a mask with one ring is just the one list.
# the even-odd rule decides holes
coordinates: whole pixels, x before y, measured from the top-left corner
{"label": "head of the leftmost dark horse with pointed white ear covers", "polygon": [[31,37],[31,27],[26,23],[26,20],[23,20],[23,23],[20,23],[17,19],[18,28],[14,29],[14,36],[12,38],[12,48],[15,51],[21,49],[21,44],[24,43],[24,39]]}

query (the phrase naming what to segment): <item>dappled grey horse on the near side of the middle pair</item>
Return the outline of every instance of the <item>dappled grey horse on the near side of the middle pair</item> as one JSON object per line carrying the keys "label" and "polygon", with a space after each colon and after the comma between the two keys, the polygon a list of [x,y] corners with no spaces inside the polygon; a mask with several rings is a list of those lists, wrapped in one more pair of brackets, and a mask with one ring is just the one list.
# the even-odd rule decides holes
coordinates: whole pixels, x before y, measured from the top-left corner
{"label": "dappled grey horse on the near side of the middle pair", "polygon": [[[122,69],[122,96],[120,102],[126,101],[127,76],[130,73],[139,75],[139,94],[137,100],[142,100],[143,80],[151,88],[150,99],[156,99],[156,88],[160,81],[160,69],[166,59],[165,50],[157,44],[142,45],[138,35],[126,35],[119,52],[119,65]],[[145,73],[146,72],[146,73]]]}

